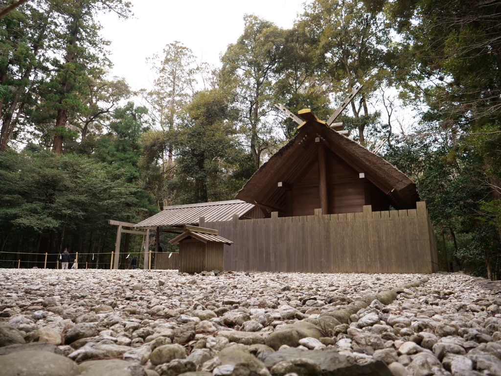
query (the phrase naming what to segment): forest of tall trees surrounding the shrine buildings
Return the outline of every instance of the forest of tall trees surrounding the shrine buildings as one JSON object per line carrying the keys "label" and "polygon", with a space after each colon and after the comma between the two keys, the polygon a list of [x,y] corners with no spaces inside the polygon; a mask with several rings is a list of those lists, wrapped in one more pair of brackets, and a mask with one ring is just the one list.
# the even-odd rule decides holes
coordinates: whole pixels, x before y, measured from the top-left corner
{"label": "forest of tall trees surrounding the shrine buildings", "polygon": [[[246,15],[218,67],[173,41],[137,92],[110,77],[97,21],[130,17],[129,3],[0,8],[13,3],[0,18],[0,266],[43,266],[47,252],[54,267],[65,247],[109,266],[107,220],[233,199],[296,133],[275,103],[325,120],[361,83],[341,120],[371,150],[386,140],[378,154],[416,182],[442,270],[499,279],[498,1],[314,0],[291,29]],[[140,252],[139,238],[123,247]]]}

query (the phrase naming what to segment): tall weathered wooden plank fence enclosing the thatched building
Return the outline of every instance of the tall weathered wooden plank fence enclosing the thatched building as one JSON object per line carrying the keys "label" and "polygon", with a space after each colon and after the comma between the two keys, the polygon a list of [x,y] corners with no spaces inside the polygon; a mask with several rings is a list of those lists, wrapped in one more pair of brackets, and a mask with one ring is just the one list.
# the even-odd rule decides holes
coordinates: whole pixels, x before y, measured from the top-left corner
{"label": "tall weathered wooden plank fence enclosing the thatched building", "polygon": [[[234,242],[224,269],[312,273],[433,273],[435,233],[424,202],[417,209],[205,222]],[[202,220],[203,221],[203,220]]]}

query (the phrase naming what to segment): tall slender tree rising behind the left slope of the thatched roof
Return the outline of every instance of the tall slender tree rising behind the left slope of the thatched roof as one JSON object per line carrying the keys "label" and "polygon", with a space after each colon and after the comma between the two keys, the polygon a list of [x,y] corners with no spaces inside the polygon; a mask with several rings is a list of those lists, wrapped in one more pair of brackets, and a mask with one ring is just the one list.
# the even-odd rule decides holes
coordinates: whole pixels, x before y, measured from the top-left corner
{"label": "tall slender tree rising behind the left slope of the thatched roof", "polygon": [[277,103],[276,69],[289,54],[285,31],[256,16],[244,17],[245,27],[237,42],[221,58],[221,85],[232,87],[239,110],[242,142],[250,150],[256,169],[263,152],[275,143],[270,114]]}

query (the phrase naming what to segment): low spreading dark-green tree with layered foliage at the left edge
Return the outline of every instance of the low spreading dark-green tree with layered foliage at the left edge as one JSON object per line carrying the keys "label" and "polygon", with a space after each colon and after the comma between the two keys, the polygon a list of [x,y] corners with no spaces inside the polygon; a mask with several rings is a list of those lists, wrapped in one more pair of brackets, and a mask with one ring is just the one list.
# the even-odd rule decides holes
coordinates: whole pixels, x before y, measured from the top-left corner
{"label": "low spreading dark-green tree with layered foliage at the left edge", "polygon": [[127,172],[88,156],[56,155],[34,145],[21,153],[6,150],[0,154],[0,244],[17,249],[12,238],[17,235],[26,251],[55,254],[79,239],[81,251],[83,240],[94,242],[92,234],[102,233],[108,219],[138,221],[138,214],[154,208],[141,203],[142,191]]}

